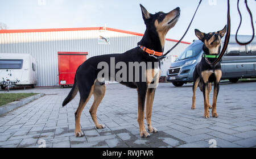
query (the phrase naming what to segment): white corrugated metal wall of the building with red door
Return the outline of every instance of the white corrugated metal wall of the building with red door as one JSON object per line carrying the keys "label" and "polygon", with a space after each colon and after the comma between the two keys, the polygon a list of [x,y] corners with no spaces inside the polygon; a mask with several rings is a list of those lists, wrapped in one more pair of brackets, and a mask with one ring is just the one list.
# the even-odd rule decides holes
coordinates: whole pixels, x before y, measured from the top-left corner
{"label": "white corrugated metal wall of the building with red door", "polygon": [[[109,45],[98,44],[102,30],[14,32],[0,34],[0,53],[30,53],[38,63],[38,86],[56,86],[58,83],[57,52],[88,52],[88,56],[123,53],[137,46],[142,36],[117,31],[104,31]],[[166,40],[165,49],[176,42]],[[180,53],[188,44],[180,43],[172,55]]]}

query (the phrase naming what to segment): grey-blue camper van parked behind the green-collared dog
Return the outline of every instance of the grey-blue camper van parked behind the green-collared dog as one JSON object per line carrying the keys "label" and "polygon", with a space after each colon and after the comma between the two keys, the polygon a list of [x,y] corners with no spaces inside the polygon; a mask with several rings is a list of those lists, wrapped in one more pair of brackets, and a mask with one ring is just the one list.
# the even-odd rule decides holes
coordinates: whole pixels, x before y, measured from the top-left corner
{"label": "grey-blue camper van parked behind the green-collared dog", "polygon": [[[224,38],[223,38],[224,39]],[[250,36],[239,35],[240,41],[247,41]],[[223,41],[222,44],[223,45]],[[203,43],[193,41],[167,70],[167,81],[175,86],[193,82],[195,66],[201,61]],[[235,36],[230,36],[228,48],[221,59],[222,79],[237,82],[240,78],[256,77],[256,39],[245,46],[236,43]]]}

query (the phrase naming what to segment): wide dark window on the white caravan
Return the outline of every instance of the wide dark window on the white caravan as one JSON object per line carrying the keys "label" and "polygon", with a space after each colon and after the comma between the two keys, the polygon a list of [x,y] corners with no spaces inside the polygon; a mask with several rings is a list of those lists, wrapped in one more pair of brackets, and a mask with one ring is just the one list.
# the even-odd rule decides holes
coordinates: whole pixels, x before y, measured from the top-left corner
{"label": "wide dark window on the white caravan", "polygon": [[23,60],[0,59],[0,69],[21,69]]}

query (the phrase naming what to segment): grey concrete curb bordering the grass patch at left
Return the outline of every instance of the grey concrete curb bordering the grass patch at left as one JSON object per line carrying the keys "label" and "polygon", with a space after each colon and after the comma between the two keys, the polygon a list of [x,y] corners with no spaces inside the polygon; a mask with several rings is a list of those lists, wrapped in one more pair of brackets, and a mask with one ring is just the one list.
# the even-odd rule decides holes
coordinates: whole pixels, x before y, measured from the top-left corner
{"label": "grey concrete curb bordering the grass patch at left", "polygon": [[38,99],[43,95],[44,93],[39,93],[31,97],[23,98],[20,101],[14,101],[3,106],[0,106],[0,115],[6,114],[7,112],[14,110],[15,108],[18,108],[20,106],[23,106],[24,104],[34,101],[35,99]]}

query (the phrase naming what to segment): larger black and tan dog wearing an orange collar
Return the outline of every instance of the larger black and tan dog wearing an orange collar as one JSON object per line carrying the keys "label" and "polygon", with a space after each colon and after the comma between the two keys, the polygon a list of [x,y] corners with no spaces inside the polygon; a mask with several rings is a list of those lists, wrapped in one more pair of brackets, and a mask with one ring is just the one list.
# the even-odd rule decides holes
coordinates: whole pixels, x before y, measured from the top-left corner
{"label": "larger black and tan dog wearing an orange collar", "polygon": [[[124,62],[126,65],[129,65],[130,62],[137,62],[139,64],[146,64],[146,70],[139,70],[139,81],[136,81],[134,74],[127,74],[127,78],[131,81],[121,81],[120,83],[131,88],[135,88],[138,91],[138,123],[139,123],[139,132],[141,137],[150,136],[144,127],[144,104],[146,101],[146,120],[147,128],[149,132],[157,132],[156,128],[151,125],[151,112],[152,112],[152,103],[155,95],[155,88],[148,87],[152,82],[158,82],[159,76],[154,79],[152,74],[155,72],[160,72],[160,65],[158,58],[163,53],[165,36],[167,32],[175,26],[177,20],[180,16],[180,9],[176,9],[164,13],[157,12],[156,14],[150,14],[142,5],[141,5],[142,15],[144,23],[146,24],[146,31],[142,37],[142,40],[139,41],[138,45],[141,47],[135,47],[125,53],[121,54],[110,54],[110,55],[101,55],[94,56],[86,60],[83,64],[79,66],[76,71],[74,85],[64,99],[63,106],[70,102],[77,91],[80,93],[80,102],[79,107],[75,112],[75,135],[81,137],[84,133],[80,128],[80,116],[85,104],[89,101],[91,95],[94,95],[94,102],[90,108],[90,114],[92,116],[93,122],[96,125],[96,128],[104,128],[104,125],[101,125],[97,121],[96,111],[98,105],[100,104],[102,98],[105,94],[105,85],[104,82],[101,82],[97,78],[97,74],[102,70],[98,69],[98,64],[100,62],[106,62],[109,66],[111,64],[111,59],[114,58],[114,64],[117,62]],[[154,57],[155,56],[155,57]],[[152,63],[152,66],[148,66],[148,62]],[[155,65],[155,62],[157,65]],[[110,68],[109,68],[110,69]],[[115,68],[114,73],[110,73],[111,76],[115,76],[121,68]],[[136,70],[135,70],[136,71]],[[138,70],[137,70],[138,71]],[[111,72],[111,71],[110,71]],[[151,73],[150,73],[151,72]],[[153,73],[152,73],[153,72]],[[148,75],[151,74],[151,75]],[[159,74],[160,75],[160,74]],[[141,79],[145,76],[146,81]],[[104,76],[105,77],[105,76]],[[109,76],[108,76],[109,77]],[[154,80],[153,80],[154,79]],[[109,79],[105,79],[109,80]]]}

